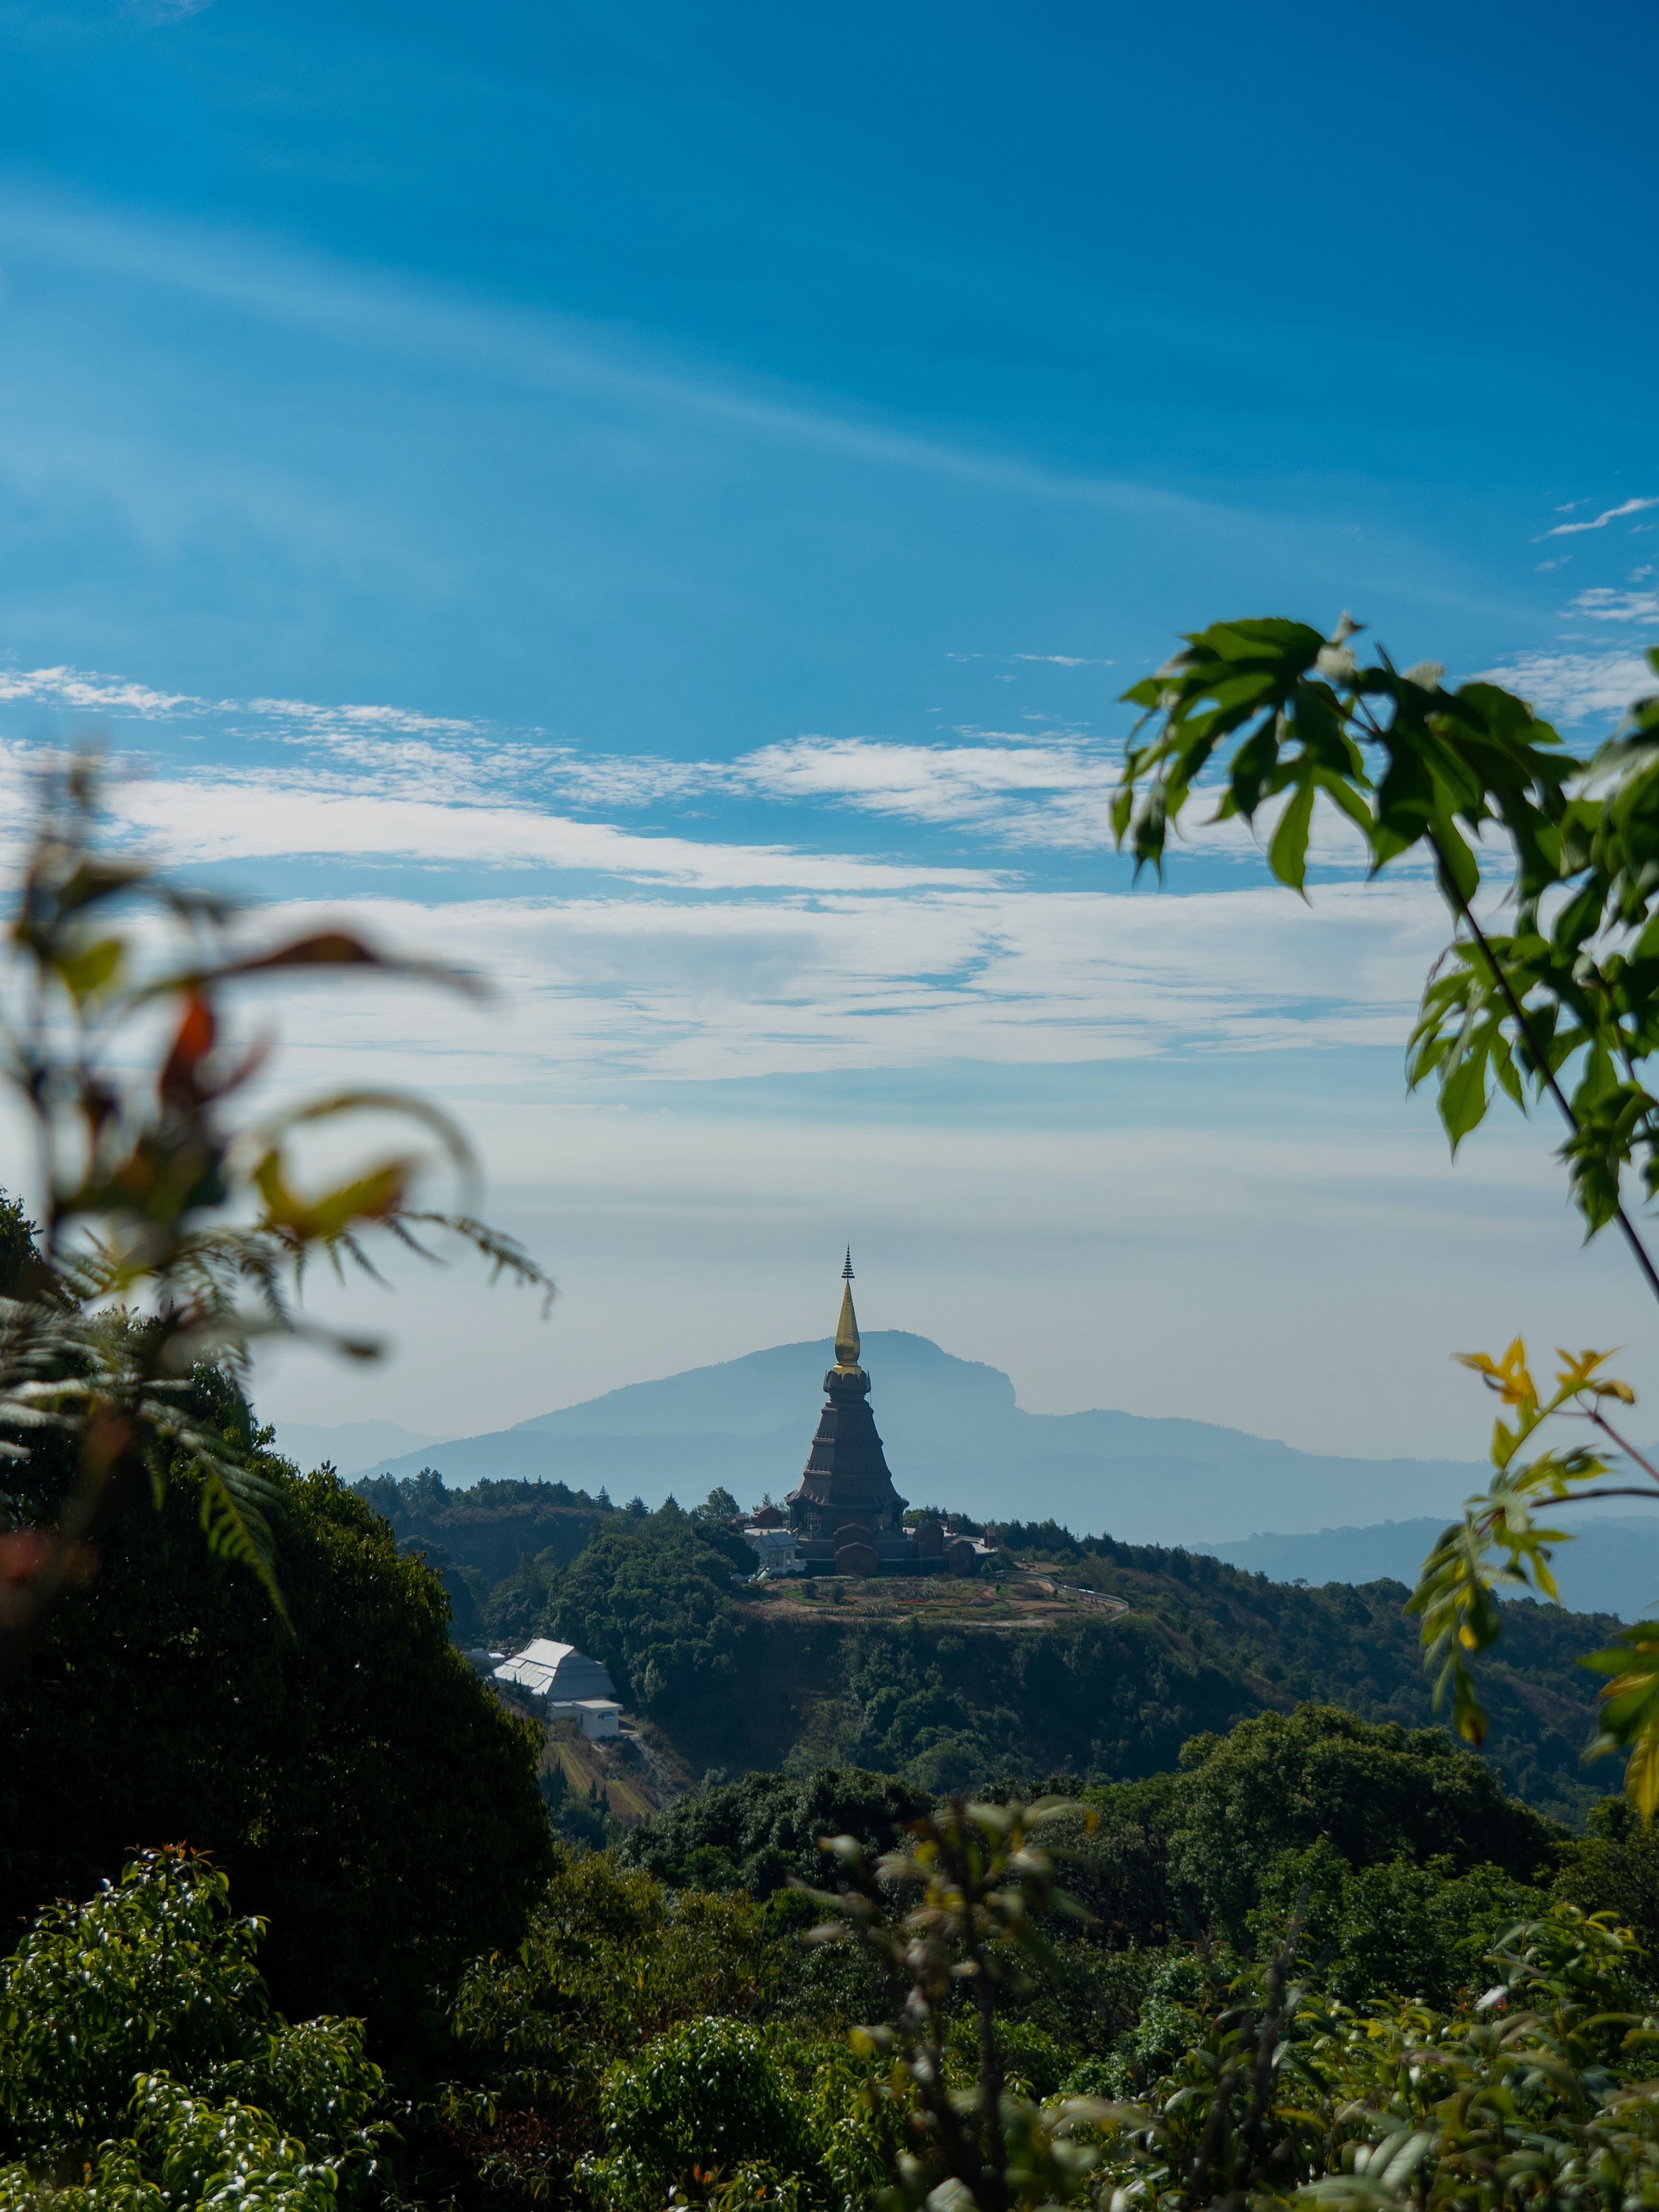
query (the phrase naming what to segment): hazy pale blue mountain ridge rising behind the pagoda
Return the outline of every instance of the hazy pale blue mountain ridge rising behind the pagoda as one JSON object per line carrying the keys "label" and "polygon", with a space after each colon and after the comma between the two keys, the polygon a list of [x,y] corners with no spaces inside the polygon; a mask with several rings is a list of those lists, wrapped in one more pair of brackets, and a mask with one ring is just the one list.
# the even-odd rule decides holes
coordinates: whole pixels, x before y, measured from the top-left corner
{"label": "hazy pale blue mountain ridge rising behind the pagoda", "polygon": [[[1484,1482],[1458,1460],[1352,1460],[1183,1418],[1026,1413],[1002,1369],[960,1360],[907,1329],[863,1340],[876,1427],[911,1504],[982,1520],[1057,1520],[1133,1544],[1225,1544],[1334,1522],[1451,1515]],[[451,1438],[354,1475],[407,1480],[436,1467],[480,1480],[566,1482],[648,1506],[695,1504],[717,1484],[741,1504],[783,1498],[801,1478],[823,1402],[830,1338],[772,1345],[657,1383]]]}

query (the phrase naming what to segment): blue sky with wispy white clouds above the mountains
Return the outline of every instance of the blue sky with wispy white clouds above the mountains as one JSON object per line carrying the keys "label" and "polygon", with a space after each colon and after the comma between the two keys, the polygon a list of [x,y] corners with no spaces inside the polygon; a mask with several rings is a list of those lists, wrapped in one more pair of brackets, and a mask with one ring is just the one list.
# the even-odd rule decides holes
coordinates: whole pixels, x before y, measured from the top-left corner
{"label": "blue sky with wispy white clouds above the mountains", "polygon": [[290,1066],[462,1106],[564,1285],[411,1281],[265,1402],[522,1418],[816,1332],[847,1234],[1035,1407],[1475,1451],[1444,1354],[1515,1325],[1659,1385],[1548,1133],[1451,1170],[1402,1102],[1429,889],[1104,830],[1223,613],[1617,717],[1657,62],[1646,4],[0,4],[0,739],[500,975]]}

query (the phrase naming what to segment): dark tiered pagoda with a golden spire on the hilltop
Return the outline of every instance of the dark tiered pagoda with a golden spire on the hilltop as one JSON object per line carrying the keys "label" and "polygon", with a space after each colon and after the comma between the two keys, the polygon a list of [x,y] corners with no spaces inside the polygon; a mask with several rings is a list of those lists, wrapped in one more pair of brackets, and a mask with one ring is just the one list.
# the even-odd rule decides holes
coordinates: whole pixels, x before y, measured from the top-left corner
{"label": "dark tiered pagoda with a golden spire on the hilltop", "polygon": [[[823,1378],[825,1407],[807,1467],[785,1504],[807,1575],[916,1573],[916,1531],[887,1471],[887,1453],[869,1411],[869,1376],[858,1365],[858,1316],[852,1307],[852,1248],[841,1270],[836,1365]],[[929,1528],[929,1537],[933,1531]],[[942,1546],[927,1542],[938,1557]],[[942,1562],[940,1562],[942,1564]]]}

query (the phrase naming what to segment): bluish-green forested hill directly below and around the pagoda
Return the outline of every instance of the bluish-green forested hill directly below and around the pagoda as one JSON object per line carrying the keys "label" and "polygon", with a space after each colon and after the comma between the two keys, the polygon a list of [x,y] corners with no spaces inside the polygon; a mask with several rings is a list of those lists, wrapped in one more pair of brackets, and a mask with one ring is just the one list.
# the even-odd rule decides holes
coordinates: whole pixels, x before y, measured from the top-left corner
{"label": "bluish-green forested hill directly below and around the pagoda", "polygon": [[[1199,1730],[1310,1699],[1433,1721],[1396,1582],[1305,1590],[1044,1522],[1006,1531],[1006,1559],[982,1586],[905,1595],[876,1582],[832,1601],[812,1584],[734,1588],[752,1557],[719,1498],[692,1513],[615,1511],[562,1484],[445,1491],[431,1473],[361,1482],[358,1495],[442,1571],[458,1632],[544,1632],[591,1650],[692,1772],[856,1765],[927,1792],[1046,1774],[1121,1781],[1170,1767]],[[1044,1566],[1126,1610],[1077,1606],[1035,1626],[998,1615],[995,1590]],[[1582,1765],[1595,1686],[1577,1666],[1615,1628],[1511,1606],[1489,1670],[1486,1756],[1506,1787],[1573,1823],[1617,1787],[1613,1767]]]}

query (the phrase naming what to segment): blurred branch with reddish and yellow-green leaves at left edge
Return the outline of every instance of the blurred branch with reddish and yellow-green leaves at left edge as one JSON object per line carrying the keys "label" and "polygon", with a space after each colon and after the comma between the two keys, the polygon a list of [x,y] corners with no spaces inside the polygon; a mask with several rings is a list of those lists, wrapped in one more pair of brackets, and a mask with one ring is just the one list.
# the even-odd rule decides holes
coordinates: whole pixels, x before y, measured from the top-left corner
{"label": "blurred branch with reddish and yellow-green leaves at left edge", "polygon": [[[100,1526],[146,1486],[159,1500],[177,1467],[201,1478],[208,1546],[246,1562],[281,1606],[268,1486],[186,1400],[197,1365],[246,1376],[263,1338],[376,1354],[369,1338],[303,1318],[316,1259],[374,1276],[374,1239],[431,1259],[440,1232],[478,1250],[491,1279],[551,1301],[553,1283],[513,1239],[471,1210],[416,1203],[434,1146],[462,1194],[476,1181],[462,1130],[429,1099],[343,1088],[239,1115],[270,1044],[228,1042],[230,1000],[365,971],[480,989],[338,929],[261,942],[234,900],[126,852],[93,759],[40,768],[4,940],[0,1075],[33,1130],[42,1221],[18,1212],[0,1254],[0,1460],[55,1453],[66,1480],[46,1520],[0,1526],[0,1668],[91,1568]],[[354,1115],[394,1117],[425,1144],[310,1192],[296,1141]]]}

